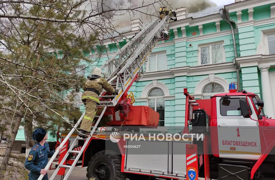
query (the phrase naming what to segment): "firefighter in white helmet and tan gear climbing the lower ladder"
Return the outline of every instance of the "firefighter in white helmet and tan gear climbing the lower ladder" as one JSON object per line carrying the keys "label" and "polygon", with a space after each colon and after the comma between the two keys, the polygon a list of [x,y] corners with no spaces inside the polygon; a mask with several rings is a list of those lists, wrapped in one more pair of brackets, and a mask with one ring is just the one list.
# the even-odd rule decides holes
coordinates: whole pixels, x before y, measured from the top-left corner
{"label": "firefighter in white helmet and tan gear climbing the lower ladder", "polygon": [[[97,112],[97,105],[100,104],[98,96],[100,95],[102,88],[112,94],[118,94],[118,90],[114,89],[105,78],[102,77],[103,72],[100,68],[95,67],[91,76],[88,76],[88,80],[83,85],[83,94],[81,97],[82,102],[86,107],[85,116],[82,120],[79,137],[87,138],[87,132],[91,131],[95,113]],[[82,134],[81,134],[82,133]]]}

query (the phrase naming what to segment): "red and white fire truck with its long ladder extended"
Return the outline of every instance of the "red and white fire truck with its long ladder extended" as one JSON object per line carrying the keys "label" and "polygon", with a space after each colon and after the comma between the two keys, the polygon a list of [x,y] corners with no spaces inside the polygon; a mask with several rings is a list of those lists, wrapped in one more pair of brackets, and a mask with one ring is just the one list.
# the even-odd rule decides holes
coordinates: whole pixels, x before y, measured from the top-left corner
{"label": "red and white fire truck with its long ladder extended", "polygon": [[[146,106],[132,106],[127,92],[144,74],[144,62],[161,40],[158,37],[162,29],[167,29],[169,19],[152,21],[101,66],[108,82],[120,89],[119,94],[103,91],[99,96],[101,110],[88,138],[80,138],[75,132],[84,114],[70,133],[61,134],[62,150],[56,151],[45,167],[56,168],[50,179],[56,175],[68,179],[75,166],[87,167],[87,178],[96,180],[275,179],[275,121],[263,114],[263,101],[256,94],[237,92],[235,83],[230,84],[229,92],[209,100],[195,100],[184,89],[185,127],[175,133],[180,138],[147,141],[154,128],[139,129],[145,138],[142,141],[117,138],[121,126],[157,127],[158,113]],[[112,118],[108,125],[117,127],[98,127],[104,115]],[[156,131],[165,132],[160,128]],[[193,139],[193,134],[200,138]],[[117,142],[106,141],[109,139]],[[107,148],[108,142],[112,149]],[[42,178],[40,175],[39,180]]]}

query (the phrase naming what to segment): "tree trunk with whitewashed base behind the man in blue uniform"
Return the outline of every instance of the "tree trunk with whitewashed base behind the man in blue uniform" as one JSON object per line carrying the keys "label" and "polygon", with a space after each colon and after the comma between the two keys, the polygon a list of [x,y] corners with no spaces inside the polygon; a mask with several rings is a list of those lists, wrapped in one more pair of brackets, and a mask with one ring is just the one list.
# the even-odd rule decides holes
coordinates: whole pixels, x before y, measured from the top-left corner
{"label": "tree trunk with whitewashed base behind the man in blue uniform", "polygon": [[24,124],[24,134],[25,134],[25,140],[26,140],[25,157],[29,155],[29,152],[31,151],[32,146],[34,146],[34,141],[32,140],[32,122],[33,120],[31,118],[25,119],[25,124]]}

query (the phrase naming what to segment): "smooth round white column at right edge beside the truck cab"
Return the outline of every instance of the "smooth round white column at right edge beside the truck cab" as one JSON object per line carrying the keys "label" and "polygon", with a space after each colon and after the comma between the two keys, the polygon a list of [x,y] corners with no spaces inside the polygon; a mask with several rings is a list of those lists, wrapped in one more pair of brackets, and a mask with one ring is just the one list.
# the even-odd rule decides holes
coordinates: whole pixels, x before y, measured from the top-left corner
{"label": "smooth round white column at right edge beside the truck cab", "polygon": [[270,98],[271,92],[271,84],[270,84],[270,77],[269,77],[269,69],[270,66],[259,67],[261,72],[261,82],[262,82],[262,96],[264,101],[263,111],[268,118],[274,117],[274,106],[273,100]]}

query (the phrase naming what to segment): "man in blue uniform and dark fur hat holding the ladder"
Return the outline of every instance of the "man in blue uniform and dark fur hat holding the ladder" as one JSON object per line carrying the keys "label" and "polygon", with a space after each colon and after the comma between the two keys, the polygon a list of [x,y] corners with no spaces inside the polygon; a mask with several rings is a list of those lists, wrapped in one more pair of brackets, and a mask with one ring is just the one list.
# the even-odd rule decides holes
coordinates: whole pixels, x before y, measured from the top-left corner
{"label": "man in blue uniform and dark fur hat holding the ladder", "polygon": [[48,180],[47,170],[44,168],[48,163],[48,158],[53,156],[55,150],[50,151],[49,144],[46,142],[48,134],[45,129],[35,129],[32,133],[32,138],[37,141],[37,143],[32,147],[25,161],[25,168],[31,171],[29,173],[29,179],[36,180],[40,174],[43,174],[43,180]]}

